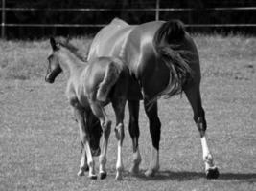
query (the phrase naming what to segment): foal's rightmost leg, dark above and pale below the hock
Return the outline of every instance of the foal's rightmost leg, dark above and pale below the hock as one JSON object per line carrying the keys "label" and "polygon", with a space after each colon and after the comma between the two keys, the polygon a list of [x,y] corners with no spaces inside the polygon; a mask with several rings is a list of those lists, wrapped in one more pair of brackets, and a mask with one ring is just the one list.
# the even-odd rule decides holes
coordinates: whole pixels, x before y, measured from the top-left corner
{"label": "foal's rightmost leg, dark above and pale below the hock", "polygon": [[116,127],[115,135],[118,141],[117,147],[117,162],[116,162],[116,180],[123,180],[123,159],[122,159],[122,145],[125,138],[124,131],[124,117],[125,117],[125,106],[126,99],[115,98],[112,100],[112,106],[116,116]]}

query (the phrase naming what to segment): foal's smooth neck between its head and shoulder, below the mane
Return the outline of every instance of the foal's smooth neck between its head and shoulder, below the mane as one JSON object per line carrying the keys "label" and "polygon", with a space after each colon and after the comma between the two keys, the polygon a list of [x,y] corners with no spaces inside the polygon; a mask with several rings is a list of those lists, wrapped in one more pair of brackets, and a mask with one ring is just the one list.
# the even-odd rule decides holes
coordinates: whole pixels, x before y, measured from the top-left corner
{"label": "foal's smooth neck between its head and shoulder, below the mane", "polygon": [[59,54],[59,57],[61,69],[68,74],[69,78],[79,77],[81,71],[86,67],[79,57],[66,49]]}

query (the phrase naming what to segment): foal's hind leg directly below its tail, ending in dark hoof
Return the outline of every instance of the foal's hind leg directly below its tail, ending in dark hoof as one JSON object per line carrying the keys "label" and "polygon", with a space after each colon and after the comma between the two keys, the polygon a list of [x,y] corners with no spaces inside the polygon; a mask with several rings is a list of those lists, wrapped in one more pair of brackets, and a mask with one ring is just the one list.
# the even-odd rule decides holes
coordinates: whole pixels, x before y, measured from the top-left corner
{"label": "foal's hind leg directly below its tail, ending in dark hoof", "polygon": [[108,138],[111,132],[111,121],[108,119],[107,115],[105,114],[105,109],[96,103],[91,103],[91,109],[92,112],[96,117],[100,119],[101,126],[103,128],[103,142],[102,142],[102,149],[101,149],[101,155],[99,157],[99,163],[100,163],[100,179],[103,180],[106,178],[106,151],[107,151],[107,145],[108,145]]}

